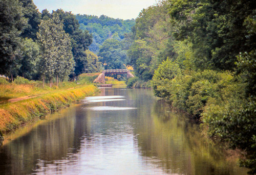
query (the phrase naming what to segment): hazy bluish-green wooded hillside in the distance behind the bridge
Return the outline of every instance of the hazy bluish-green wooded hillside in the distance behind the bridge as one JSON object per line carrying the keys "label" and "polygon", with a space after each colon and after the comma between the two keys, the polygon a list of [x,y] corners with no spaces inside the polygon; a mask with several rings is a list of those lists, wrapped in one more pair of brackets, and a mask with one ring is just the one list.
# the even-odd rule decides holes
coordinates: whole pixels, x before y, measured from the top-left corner
{"label": "hazy bluish-green wooded hillside in the distance behind the bridge", "polygon": [[76,15],[80,29],[89,31],[93,42],[90,51],[99,56],[104,69],[123,69],[127,62],[127,49],[131,45],[131,30],[135,20],[114,19],[101,15]]}

